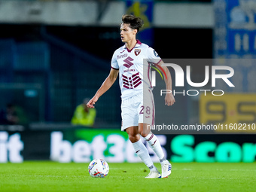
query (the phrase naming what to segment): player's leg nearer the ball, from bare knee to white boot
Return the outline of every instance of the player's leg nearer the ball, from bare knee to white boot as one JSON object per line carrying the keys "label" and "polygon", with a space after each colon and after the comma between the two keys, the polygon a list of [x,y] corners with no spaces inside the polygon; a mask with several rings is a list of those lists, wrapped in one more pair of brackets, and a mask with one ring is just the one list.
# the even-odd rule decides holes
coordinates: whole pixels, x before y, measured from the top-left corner
{"label": "player's leg nearer the ball, from bare knee to white boot", "polygon": [[150,169],[148,176],[145,178],[161,178],[160,172],[158,172],[157,168],[154,166],[153,161],[151,160],[151,157],[148,154],[148,149],[140,139],[138,126],[130,126],[126,128],[126,133],[128,133],[130,142],[132,142],[136,154]]}

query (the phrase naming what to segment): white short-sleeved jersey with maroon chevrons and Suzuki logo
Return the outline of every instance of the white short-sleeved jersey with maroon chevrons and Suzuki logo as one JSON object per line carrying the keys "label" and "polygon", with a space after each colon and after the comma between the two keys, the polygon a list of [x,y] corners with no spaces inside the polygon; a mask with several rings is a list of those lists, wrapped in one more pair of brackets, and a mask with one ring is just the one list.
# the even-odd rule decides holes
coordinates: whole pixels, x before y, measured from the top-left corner
{"label": "white short-sleeved jersey with maroon chevrons and Suzuki logo", "polygon": [[[128,99],[139,93],[143,93],[143,84],[151,86],[151,68],[143,67],[143,59],[148,62],[158,63],[161,61],[157,52],[147,44],[137,40],[136,46],[128,50],[125,45],[114,51],[111,59],[111,68],[119,69],[119,85],[121,98]],[[145,62],[145,61],[144,61]]]}

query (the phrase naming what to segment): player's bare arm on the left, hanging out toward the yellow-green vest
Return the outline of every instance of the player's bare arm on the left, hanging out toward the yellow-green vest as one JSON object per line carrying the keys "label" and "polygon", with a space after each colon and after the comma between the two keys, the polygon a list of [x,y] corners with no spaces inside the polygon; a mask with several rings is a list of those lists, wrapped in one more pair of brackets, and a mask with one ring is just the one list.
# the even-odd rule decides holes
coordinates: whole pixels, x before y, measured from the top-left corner
{"label": "player's bare arm on the left, hanging out toward the yellow-green vest", "polygon": [[114,81],[117,79],[119,70],[111,69],[108,75],[108,78],[102,83],[102,86],[99,87],[96,94],[93,96],[92,99],[87,103],[88,108],[94,108],[94,104],[98,101],[99,97],[102,96],[111,86],[114,84]]}

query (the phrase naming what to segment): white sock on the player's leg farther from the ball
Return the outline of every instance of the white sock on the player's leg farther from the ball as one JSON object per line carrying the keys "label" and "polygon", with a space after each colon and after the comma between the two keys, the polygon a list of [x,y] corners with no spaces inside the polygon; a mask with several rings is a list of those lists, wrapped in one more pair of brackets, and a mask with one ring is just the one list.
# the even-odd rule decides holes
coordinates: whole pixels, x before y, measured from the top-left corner
{"label": "white sock on the player's leg farther from the ball", "polygon": [[148,142],[148,145],[153,149],[157,154],[157,157],[160,160],[160,163],[166,163],[166,158],[163,154],[163,149],[161,148],[160,142],[153,133],[149,133],[148,136],[145,136],[144,139]]}

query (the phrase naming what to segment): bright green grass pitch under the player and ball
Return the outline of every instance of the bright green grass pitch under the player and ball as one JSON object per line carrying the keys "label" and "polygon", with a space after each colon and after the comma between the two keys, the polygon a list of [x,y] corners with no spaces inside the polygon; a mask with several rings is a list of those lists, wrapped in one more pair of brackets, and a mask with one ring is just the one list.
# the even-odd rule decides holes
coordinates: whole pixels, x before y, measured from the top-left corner
{"label": "bright green grass pitch under the player and ball", "polygon": [[[108,163],[91,178],[89,163],[0,163],[0,191],[255,191],[256,163],[172,163],[169,178],[145,179],[143,163]],[[155,164],[160,169],[160,163]]]}

